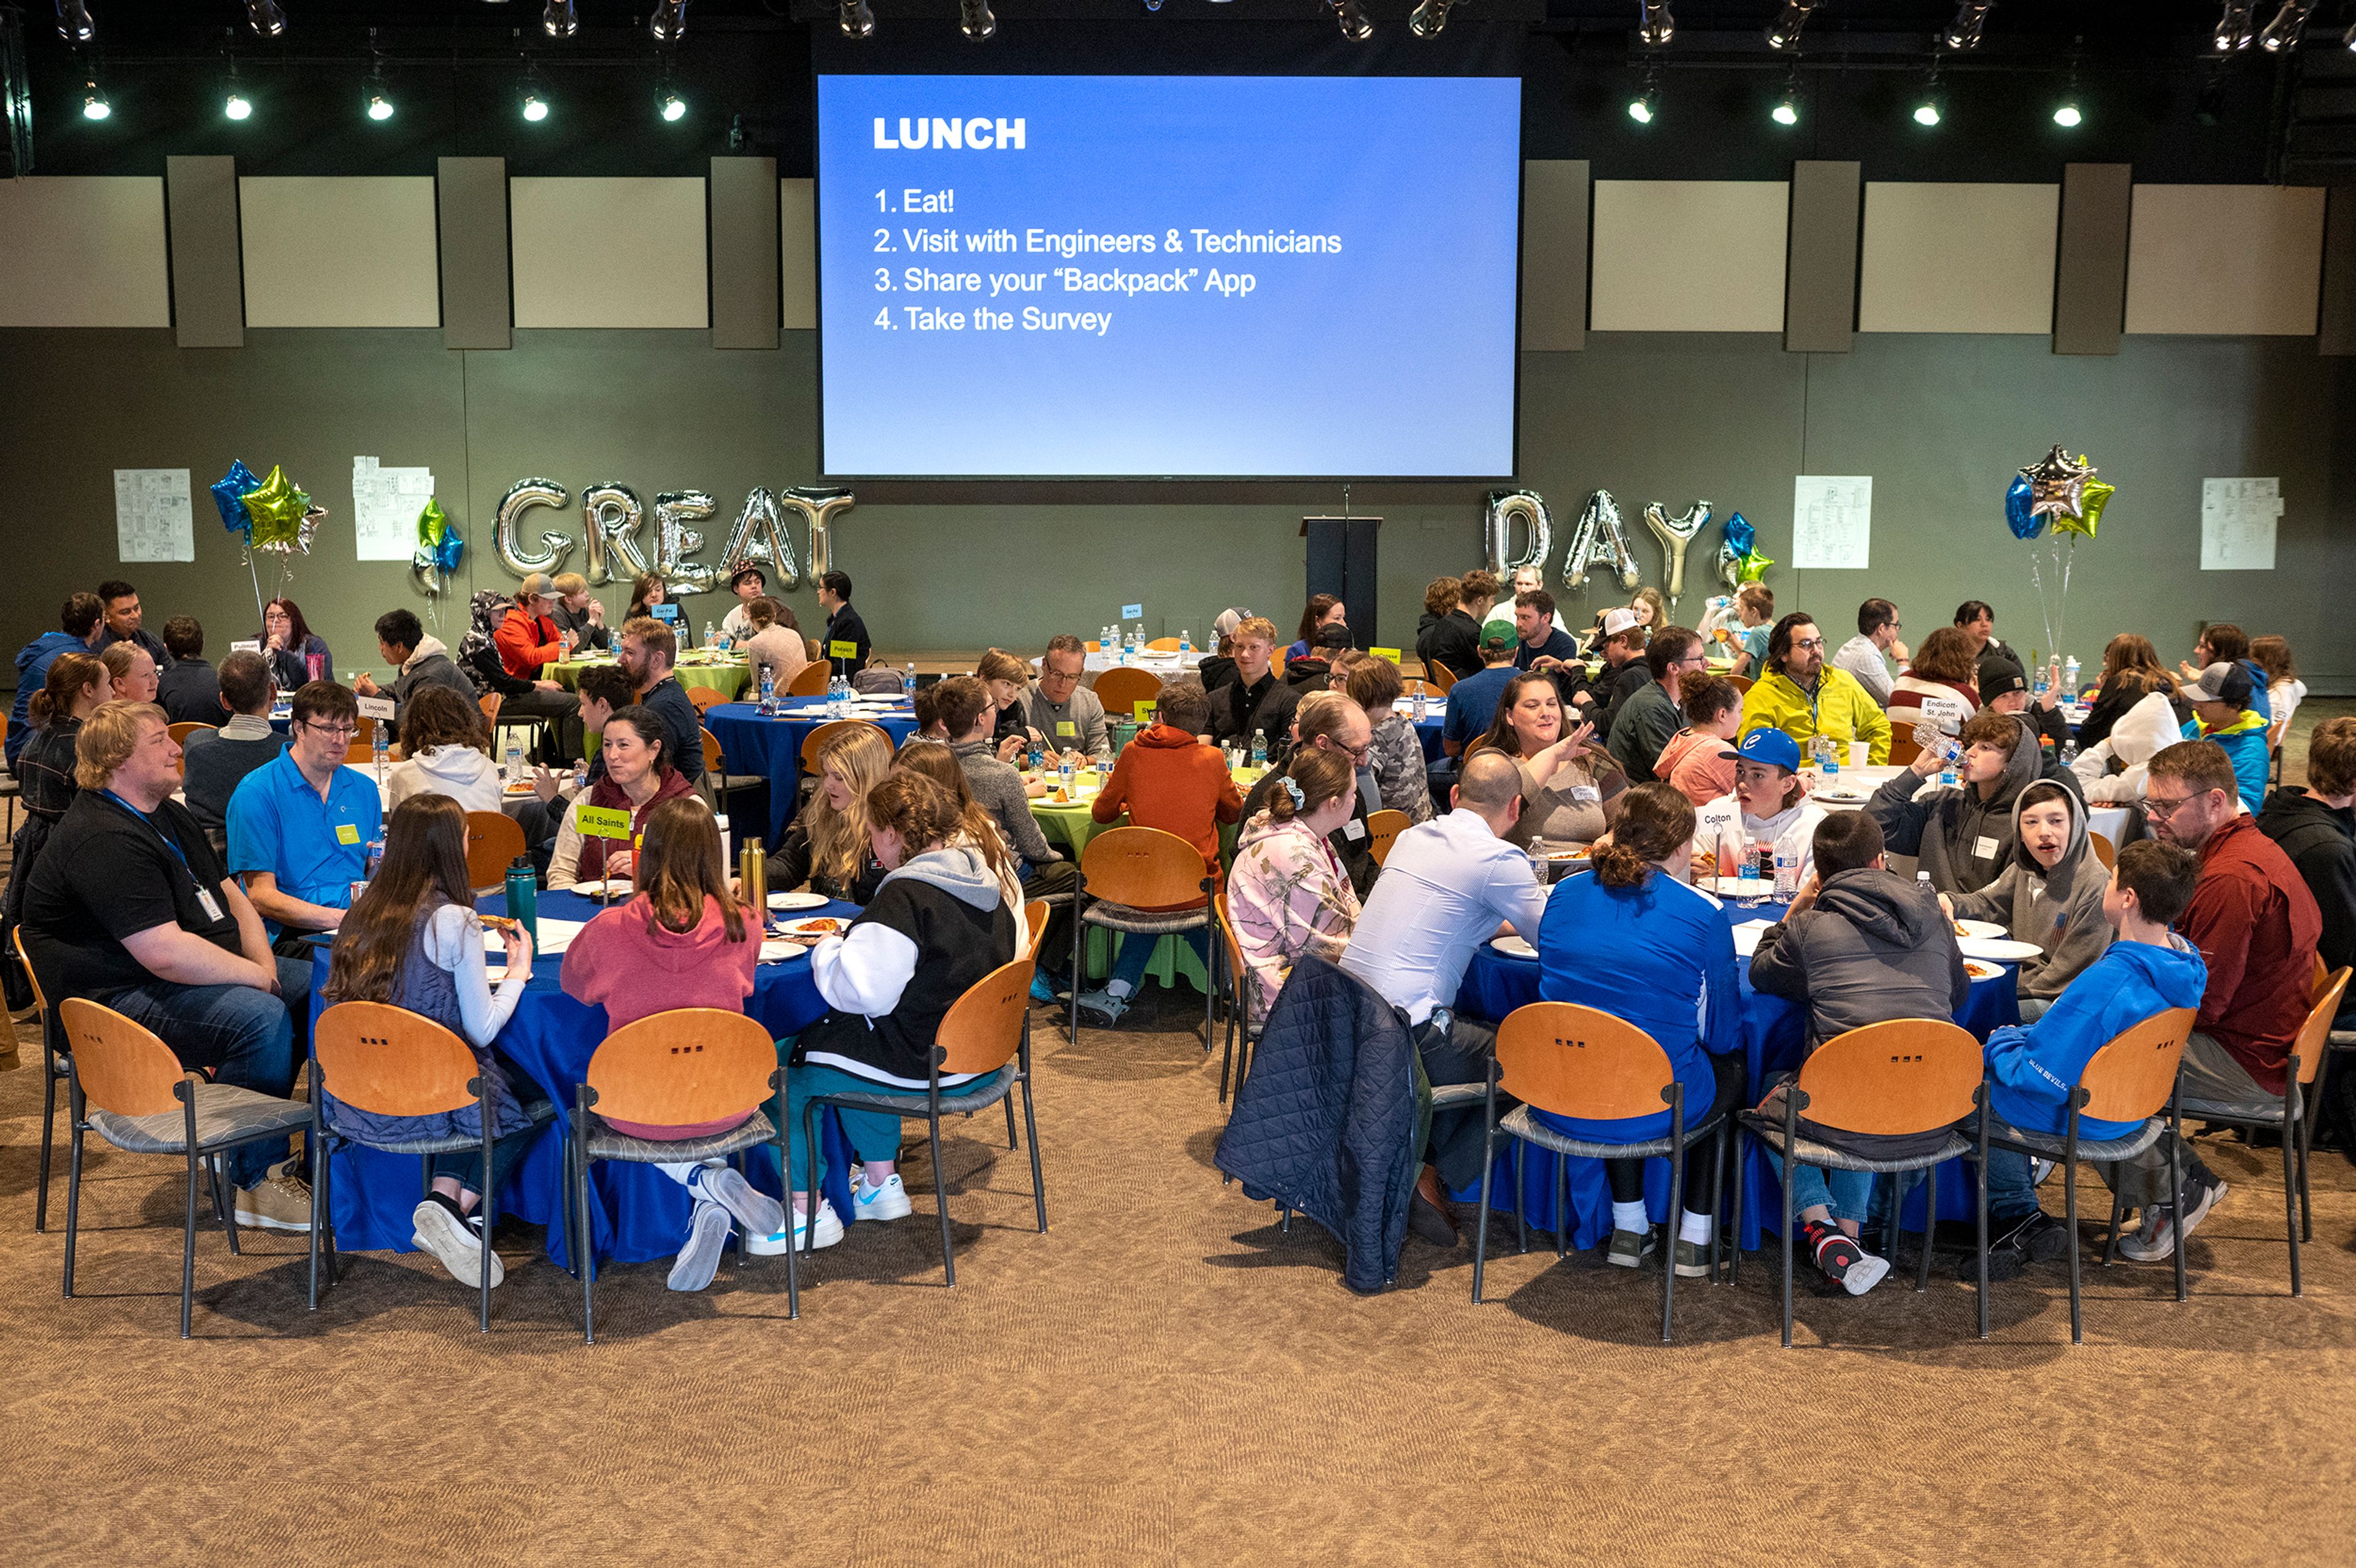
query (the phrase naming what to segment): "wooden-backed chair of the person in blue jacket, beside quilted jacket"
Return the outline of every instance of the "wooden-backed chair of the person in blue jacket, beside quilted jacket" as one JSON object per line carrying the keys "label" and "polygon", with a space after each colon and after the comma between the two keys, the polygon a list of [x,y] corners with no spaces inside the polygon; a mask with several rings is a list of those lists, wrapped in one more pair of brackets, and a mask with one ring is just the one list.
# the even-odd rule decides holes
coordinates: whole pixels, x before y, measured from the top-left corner
{"label": "wooden-backed chair of the person in blue jacket, beside quilted jacket", "polygon": [[[1496,1114],[1496,1095],[1505,1090],[1522,1104]],[[1626,1121],[1659,1116],[1668,1107],[1668,1137],[1633,1144],[1597,1142],[1560,1132],[1534,1111],[1574,1116],[1579,1121]],[[1505,1015],[1496,1029],[1496,1059],[1489,1071],[1487,1121],[1482,1142],[1480,1222],[1472,1229],[1472,1304],[1480,1304],[1482,1269],[1489,1260],[1489,1170],[1496,1163],[1496,1135],[1555,1154],[1555,1257],[1564,1255],[1569,1229],[1571,1175],[1564,1161],[1668,1158],[1668,1215],[1675,1227],[1685,1212],[1685,1144],[1694,1137],[1718,1140],[1718,1172],[1710,1180],[1710,1212],[1727,1182],[1727,1142],[1732,1121],[1701,1107],[1701,1121],[1685,1125],[1685,1085],[1661,1043],[1635,1024],[1574,1003],[1529,1003]],[[1515,1201],[1515,1224],[1522,1248],[1529,1248],[1524,1205]],[[1736,1210],[1741,1212],[1741,1210]],[[1718,1283],[1718,1231],[1710,1231],[1710,1283]],[[1670,1342],[1677,1311],[1677,1269],[1673,1253],[1661,1260],[1661,1344]]]}

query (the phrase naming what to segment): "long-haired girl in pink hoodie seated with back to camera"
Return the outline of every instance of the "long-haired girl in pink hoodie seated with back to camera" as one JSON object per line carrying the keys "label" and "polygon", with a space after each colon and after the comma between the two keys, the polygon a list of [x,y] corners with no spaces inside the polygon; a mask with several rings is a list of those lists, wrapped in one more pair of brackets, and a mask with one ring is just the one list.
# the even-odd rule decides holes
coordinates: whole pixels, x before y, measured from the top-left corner
{"label": "long-haired girl in pink hoodie seated with back to camera", "polygon": [[[608,737],[620,730],[622,744],[629,744],[631,735],[657,732],[653,720],[646,720],[646,730],[636,725],[638,718],[622,709],[608,720]],[[620,758],[615,768],[622,768]],[[565,996],[605,1008],[608,1031],[671,1008],[742,1012],[761,961],[763,913],[740,904],[728,888],[719,824],[695,796],[669,796],[646,810],[641,833],[634,869],[638,890],[629,904],[601,911],[573,937],[563,965]],[[688,1125],[603,1121],[627,1137],[676,1142],[716,1137],[744,1116]],[[785,1205],[754,1191],[726,1161],[674,1161],[655,1170],[695,1198],[686,1241],[664,1281],[671,1290],[702,1290],[712,1283],[730,1222],[744,1227],[749,1250],[782,1250]]]}

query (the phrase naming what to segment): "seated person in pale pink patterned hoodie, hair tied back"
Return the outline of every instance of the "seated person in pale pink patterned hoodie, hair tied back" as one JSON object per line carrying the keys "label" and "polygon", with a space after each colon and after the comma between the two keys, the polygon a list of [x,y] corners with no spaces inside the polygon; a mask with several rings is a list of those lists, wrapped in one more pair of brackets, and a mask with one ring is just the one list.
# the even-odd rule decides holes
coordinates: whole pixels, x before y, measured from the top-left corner
{"label": "seated person in pale pink patterned hoodie, hair tied back", "polygon": [[1303,954],[1341,963],[1359,909],[1357,888],[1331,845],[1357,798],[1350,758],[1303,746],[1272,777],[1277,789],[1244,819],[1227,871],[1227,921],[1244,954],[1253,1022],[1268,1017]]}

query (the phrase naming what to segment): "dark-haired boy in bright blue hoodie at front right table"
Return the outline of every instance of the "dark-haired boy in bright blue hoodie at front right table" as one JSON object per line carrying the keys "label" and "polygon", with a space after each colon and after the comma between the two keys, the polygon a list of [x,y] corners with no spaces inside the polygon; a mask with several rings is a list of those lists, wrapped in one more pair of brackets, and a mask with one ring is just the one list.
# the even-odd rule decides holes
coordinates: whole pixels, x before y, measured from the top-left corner
{"label": "dark-haired boy in bright blue hoodie at front right table", "polygon": [[[2036,1024],[2010,1024],[1988,1036],[1991,1111],[1996,1130],[2019,1128],[2062,1137],[2069,1097],[2094,1052],[2118,1034],[2170,1008],[2198,1008],[2208,965],[2184,937],[2168,930],[2191,904],[2201,857],[2153,838],[2118,852],[2102,916],[2118,932]],[[2078,1118],[2078,1137],[2123,1137],[2125,1121]],[[1988,1151],[1988,1276],[2010,1278],[2031,1262],[2069,1250],[2069,1231],[2038,1208],[2029,1156]],[[1967,1271],[1977,1262],[1965,1264]]]}

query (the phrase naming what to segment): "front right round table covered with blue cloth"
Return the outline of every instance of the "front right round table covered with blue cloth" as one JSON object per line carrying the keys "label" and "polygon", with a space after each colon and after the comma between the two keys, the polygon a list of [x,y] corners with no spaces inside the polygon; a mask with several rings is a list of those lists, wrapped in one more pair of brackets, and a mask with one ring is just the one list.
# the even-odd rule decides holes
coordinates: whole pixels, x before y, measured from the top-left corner
{"label": "front right round table covered with blue cloth", "polygon": [[[1755,909],[1743,909],[1729,904],[1727,913],[1734,916],[1736,925],[1748,921],[1781,921],[1783,904],[1760,904]],[[1781,996],[1767,996],[1751,989],[1751,961],[1734,961],[1736,975],[1741,977],[1741,1034],[1743,1034],[1743,1064],[1748,1078],[1743,1083],[1746,1104],[1758,1104],[1767,1097],[1767,1081],[1776,1074],[1788,1074],[1800,1069],[1802,1045],[1807,1041],[1807,1015],[1798,1003],[1783,1001]],[[1972,1031],[1972,1038],[1986,1043],[1988,1034],[2005,1024],[2021,1022],[2019,1003],[2019,972],[2014,965],[1998,965],[2003,972],[1996,979],[1974,979],[1972,991],[1955,1015],[1955,1022]],[[1494,944],[1482,944],[1472,954],[1472,963],[1465,968],[1463,986],[1456,991],[1456,1008],[1468,1017],[1480,1017],[1498,1022],[1515,1008],[1538,1001],[1538,961],[1520,958],[1515,954],[1503,954]],[[1555,1227],[1555,1154],[1546,1149],[1531,1149],[1517,1144],[1510,1137],[1498,1137],[1496,1165],[1489,1182],[1489,1205],[1503,1212],[1513,1212],[1515,1198],[1524,1201],[1524,1212],[1531,1227],[1553,1229]],[[1743,1170],[1743,1212],[1734,1215],[1734,1234],[1743,1250],[1755,1250],[1760,1245],[1760,1234],[1772,1229],[1772,1217],[1781,1212],[1783,1184],[1776,1163],[1755,1144],[1746,1147],[1743,1158],[1751,1163]],[[1520,1168],[1520,1180],[1515,1172]],[[1939,1168],[1939,1217],[1941,1220],[1970,1220],[1974,1203],[1974,1184],[1967,1177],[1965,1161],[1948,1161]],[[1732,1182],[1734,1168],[1727,1165],[1727,1180]],[[1604,1177],[1602,1161],[1574,1158],[1571,1161],[1571,1234],[1569,1245],[1593,1248],[1612,1234],[1612,1189]],[[1461,1194],[1451,1194],[1456,1201],[1480,1201],[1480,1187]],[[1689,1194],[1692,1201],[1701,1201],[1699,1194]],[[1668,1161],[1649,1158],[1644,1161],[1644,1205],[1654,1220],[1673,1220],[1668,1215]],[[1906,1227],[1918,1227],[1922,1222],[1922,1187],[1918,1184],[1906,1196]]]}

